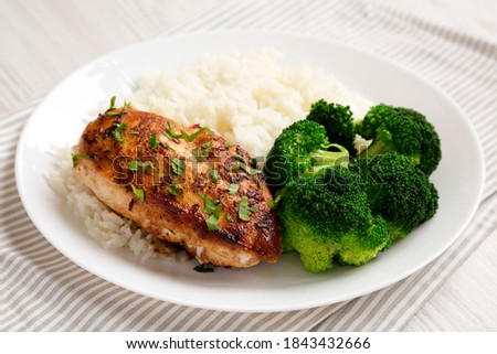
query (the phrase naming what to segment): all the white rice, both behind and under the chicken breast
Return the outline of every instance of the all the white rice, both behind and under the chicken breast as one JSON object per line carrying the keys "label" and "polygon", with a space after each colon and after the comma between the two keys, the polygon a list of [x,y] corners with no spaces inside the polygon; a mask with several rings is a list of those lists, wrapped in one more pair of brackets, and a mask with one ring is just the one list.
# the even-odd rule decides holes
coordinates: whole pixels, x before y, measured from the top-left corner
{"label": "all the white rice, both behind and under the chicken breast", "polygon": [[[267,47],[203,55],[190,66],[146,73],[126,99],[184,126],[210,127],[252,157],[265,157],[282,129],[304,119],[320,98],[350,106],[356,118],[371,106],[321,68],[290,65]],[[128,247],[144,261],[158,256],[176,259],[173,248],[110,211],[75,179],[68,149],[56,154],[51,185],[103,247]]]}

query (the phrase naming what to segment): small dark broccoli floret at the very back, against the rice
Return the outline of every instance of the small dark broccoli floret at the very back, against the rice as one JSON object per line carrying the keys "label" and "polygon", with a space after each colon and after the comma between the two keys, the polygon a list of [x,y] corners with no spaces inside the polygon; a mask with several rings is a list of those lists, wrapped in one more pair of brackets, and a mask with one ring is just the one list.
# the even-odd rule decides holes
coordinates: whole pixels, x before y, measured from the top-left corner
{"label": "small dark broccoli floret at the very back, against the rice", "polygon": [[350,155],[356,155],[357,150],[353,143],[356,131],[349,106],[320,99],[310,106],[307,119],[324,126],[330,142],[342,146],[349,151]]}

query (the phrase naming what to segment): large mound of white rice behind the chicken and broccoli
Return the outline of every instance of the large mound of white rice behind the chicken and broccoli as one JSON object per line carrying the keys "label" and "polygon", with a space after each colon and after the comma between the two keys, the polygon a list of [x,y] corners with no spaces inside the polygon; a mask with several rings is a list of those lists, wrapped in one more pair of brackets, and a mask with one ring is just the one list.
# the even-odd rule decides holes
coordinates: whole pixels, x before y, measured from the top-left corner
{"label": "large mound of white rice behind the chicken and broccoli", "polygon": [[283,128],[304,119],[319,99],[350,106],[362,118],[371,103],[329,73],[292,65],[274,49],[203,55],[193,65],[148,72],[128,100],[188,126],[200,124],[265,157]]}

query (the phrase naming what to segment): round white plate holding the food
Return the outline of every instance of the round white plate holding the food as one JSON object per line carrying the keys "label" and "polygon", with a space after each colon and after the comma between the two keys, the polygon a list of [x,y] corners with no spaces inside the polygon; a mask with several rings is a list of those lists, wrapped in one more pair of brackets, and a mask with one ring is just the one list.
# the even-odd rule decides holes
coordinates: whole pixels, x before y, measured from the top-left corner
{"label": "round white plate holding the food", "polygon": [[[47,185],[52,146],[75,143],[84,129],[80,117],[103,99],[123,97],[140,73],[173,68],[201,53],[268,45],[294,62],[335,74],[373,101],[423,111],[442,140],[443,159],[432,180],[440,191],[434,218],[376,260],[359,268],[305,272],[295,255],[276,265],[198,273],[194,262],[141,264],[127,250],[109,251],[87,236],[80,219]],[[461,168],[464,167],[464,168]],[[284,311],[352,299],[413,273],[440,256],[470,221],[484,184],[483,153],[462,110],[414,74],[377,56],[343,45],[275,33],[198,33],[140,43],[98,58],[70,75],[40,104],[19,141],[17,181],[22,202],[40,232],[66,257],[126,289],[176,303],[229,311]]]}

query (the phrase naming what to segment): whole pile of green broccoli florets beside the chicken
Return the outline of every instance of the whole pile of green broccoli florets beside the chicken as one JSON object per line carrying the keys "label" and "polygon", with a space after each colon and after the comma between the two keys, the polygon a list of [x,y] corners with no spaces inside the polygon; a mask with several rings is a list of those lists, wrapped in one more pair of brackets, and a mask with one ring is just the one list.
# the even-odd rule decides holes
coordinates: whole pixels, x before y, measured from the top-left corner
{"label": "whole pile of green broccoli florets beside the chicken", "polygon": [[[356,122],[356,131],[366,132],[357,140],[376,140],[349,157],[338,144],[348,143],[341,137],[350,137],[347,108],[322,99],[314,104],[307,119],[276,138],[265,165],[269,180],[279,183],[275,208],[284,253],[298,253],[311,272],[372,260],[438,207],[429,173],[441,159],[440,138],[424,116],[408,108],[372,107]],[[412,136],[404,129],[412,129]]]}

